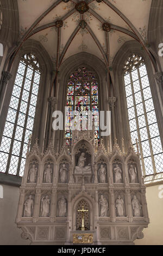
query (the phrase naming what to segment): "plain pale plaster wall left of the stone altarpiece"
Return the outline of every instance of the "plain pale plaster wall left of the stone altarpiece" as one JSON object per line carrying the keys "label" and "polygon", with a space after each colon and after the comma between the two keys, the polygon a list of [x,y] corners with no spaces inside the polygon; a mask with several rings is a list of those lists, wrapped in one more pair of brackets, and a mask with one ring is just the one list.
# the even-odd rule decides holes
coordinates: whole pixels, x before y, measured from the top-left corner
{"label": "plain pale plaster wall left of the stone altarpiece", "polygon": [[21,230],[15,224],[19,189],[3,185],[3,199],[0,199],[0,245],[29,245],[21,239]]}

